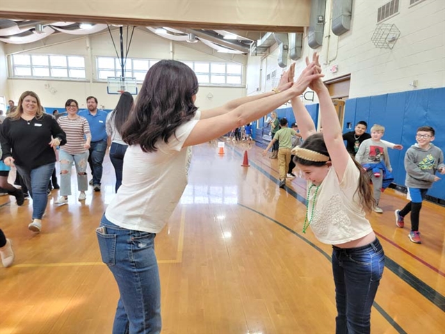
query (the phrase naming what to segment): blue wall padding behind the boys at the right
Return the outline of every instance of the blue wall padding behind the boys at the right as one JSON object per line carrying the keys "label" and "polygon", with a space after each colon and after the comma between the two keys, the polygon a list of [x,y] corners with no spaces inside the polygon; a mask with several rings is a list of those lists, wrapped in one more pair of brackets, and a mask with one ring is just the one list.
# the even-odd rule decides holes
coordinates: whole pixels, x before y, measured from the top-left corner
{"label": "blue wall padding behind the boys at the right", "polygon": [[[405,152],[416,143],[416,130],[422,125],[435,128],[434,145],[445,150],[445,88],[429,88],[403,93],[392,93],[373,97],[359,97],[346,101],[343,129],[347,122],[354,120],[353,127],[359,120],[385,127],[383,139],[392,143],[401,143],[403,150],[389,150],[393,168],[394,183],[405,186]],[[433,184],[428,195],[445,200],[445,175]]]}

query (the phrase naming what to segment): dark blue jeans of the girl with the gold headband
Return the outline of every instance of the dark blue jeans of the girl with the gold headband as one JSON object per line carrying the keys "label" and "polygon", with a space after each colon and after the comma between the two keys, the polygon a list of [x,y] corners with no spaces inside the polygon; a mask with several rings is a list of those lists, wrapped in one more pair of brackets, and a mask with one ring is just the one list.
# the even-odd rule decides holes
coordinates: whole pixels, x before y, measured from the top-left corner
{"label": "dark blue jeans of the girl with the gold headband", "polygon": [[335,333],[370,333],[371,307],[385,267],[383,248],[377,238],[362,247],[333,248]]}

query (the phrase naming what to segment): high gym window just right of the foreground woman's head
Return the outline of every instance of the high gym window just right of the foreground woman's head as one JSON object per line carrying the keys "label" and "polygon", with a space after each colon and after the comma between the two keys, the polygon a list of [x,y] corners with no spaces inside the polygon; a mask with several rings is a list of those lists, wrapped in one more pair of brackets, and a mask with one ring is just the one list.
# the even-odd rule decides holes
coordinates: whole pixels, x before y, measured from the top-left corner
{"label": "high gym window just right of the foreground woman's head", "polygon": [[183,61],[196,74],[197,81],[210,86],[242,86],[243,66],[211,61]]}

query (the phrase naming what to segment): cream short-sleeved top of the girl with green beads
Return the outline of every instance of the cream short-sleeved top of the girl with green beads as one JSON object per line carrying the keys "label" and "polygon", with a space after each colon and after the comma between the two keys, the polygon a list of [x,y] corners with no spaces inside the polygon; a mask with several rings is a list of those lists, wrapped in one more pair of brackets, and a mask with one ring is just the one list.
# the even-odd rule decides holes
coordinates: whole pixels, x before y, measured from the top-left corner
{"label": "cream short-sleeved top of the girl with green beads", "polygon": [[[311,222],[310,226],[316,238],[323,244],[344,244],[373,232],[371,224],[365,217],[364,209],[359,204],[356,192],[359,178],[360,171],[355,166],[353,158],[349,157],[341,182],[332,166],[318,188],[316,198],[314,198],[316,187],[312,187],[307,205],[307,218]],[[314,216],[312,216],[314,200]]]}

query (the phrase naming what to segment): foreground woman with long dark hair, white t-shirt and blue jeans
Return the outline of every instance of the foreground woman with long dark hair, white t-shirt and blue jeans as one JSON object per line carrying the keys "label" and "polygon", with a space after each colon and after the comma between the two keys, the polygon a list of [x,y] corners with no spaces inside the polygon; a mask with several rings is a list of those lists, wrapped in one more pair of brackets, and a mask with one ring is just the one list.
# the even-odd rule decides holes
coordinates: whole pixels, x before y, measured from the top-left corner
{"label": "foreground woman with long dark hair, white t-shirt and blue jeans", "polygon": [[294,84],[286,74],[272,92],[200,111],[195,106],[198,81],[190,67],[171,60],[150,67],[122,132],[129,144],[122,186],[96,230],[102,260],[120,291],[113,333],[161,331],[154,237],[184,192],[190,147],[265,116],[321,75],[311,64]]}

